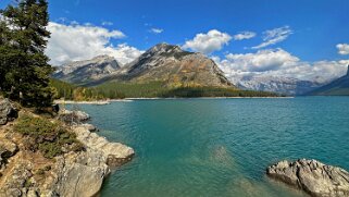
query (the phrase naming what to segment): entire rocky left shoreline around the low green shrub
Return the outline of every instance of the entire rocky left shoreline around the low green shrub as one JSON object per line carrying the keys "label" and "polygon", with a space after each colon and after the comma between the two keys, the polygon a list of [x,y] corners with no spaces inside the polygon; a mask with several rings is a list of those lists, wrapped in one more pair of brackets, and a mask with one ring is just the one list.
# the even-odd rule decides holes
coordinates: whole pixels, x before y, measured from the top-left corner
{"label": "entire rocky left shoreline around the low green shrub", "polygon": [[111,169],[124,164],[135,155],[130,147],[110,143],[94,133],[94,125],[82,124],[89,119],[88,114],[64,111],[61,121],[64,115],[71,118],[72,114],[79,119],[70,127],[85,150],[47,159],[39,152],[25,149],[23,136],[12,132],[13,123],[8,123],[14,120],[9,115],[16,111],[15,108],[9,100],[0,103],[0,119],[3,120],[0,127],[0,197],[94,196],[99,193]]}

